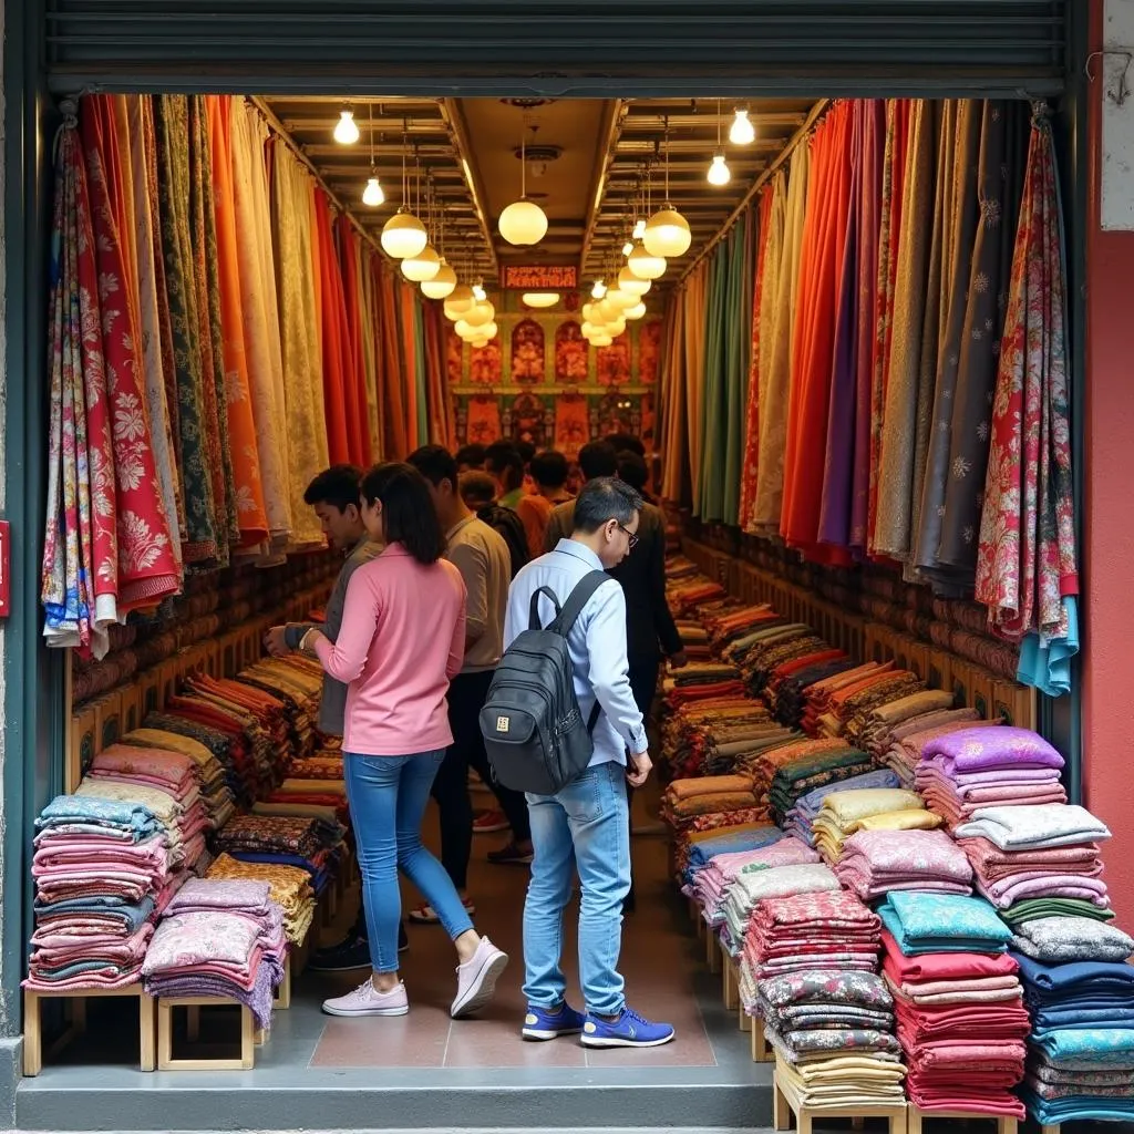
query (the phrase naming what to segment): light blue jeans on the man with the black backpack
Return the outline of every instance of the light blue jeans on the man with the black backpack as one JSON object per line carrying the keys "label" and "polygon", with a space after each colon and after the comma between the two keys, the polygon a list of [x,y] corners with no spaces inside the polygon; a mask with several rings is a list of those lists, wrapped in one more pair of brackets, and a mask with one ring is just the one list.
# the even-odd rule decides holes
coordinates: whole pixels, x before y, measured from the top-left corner
{"label": "light blue jeans on the man with the black backpack", "polygon": [[564,1001],[562,913],[577,866],[583,996],[587,1012],[615,1016],[625,1004],[618,953],[631,888],[625,769],[613,762],[587,768],[558,795],[528,795],[527,807],[535,857],[524,905],[524,995],[540,1008]]}

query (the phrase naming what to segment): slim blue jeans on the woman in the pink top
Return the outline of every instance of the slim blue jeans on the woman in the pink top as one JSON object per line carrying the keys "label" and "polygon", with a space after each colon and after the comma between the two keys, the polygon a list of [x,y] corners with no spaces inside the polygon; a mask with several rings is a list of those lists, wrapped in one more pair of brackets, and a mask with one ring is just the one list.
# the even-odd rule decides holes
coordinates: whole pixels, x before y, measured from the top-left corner
{"label": "slim blue jeans on the woman in the pink top", "polygon": [[346,753],[342,761],[375,973],[398,968],[399,868],[437,911],[450,938],[473,928],[449,875],[422,845],[422,816],[443,759],[442,750],[413,756]]}

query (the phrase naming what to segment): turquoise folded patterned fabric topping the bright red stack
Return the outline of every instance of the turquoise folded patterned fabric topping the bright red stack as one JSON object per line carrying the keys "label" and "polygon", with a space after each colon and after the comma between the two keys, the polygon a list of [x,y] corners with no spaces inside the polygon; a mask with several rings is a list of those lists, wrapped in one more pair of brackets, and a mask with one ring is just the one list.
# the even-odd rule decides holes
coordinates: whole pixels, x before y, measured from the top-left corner
{"label": "turquoise folded patterned fabric topping the bright red stack", "polygon": [[[907,957],[923,953],[1006,953],[1012,930],[983,898],[892,891],[878,915]],[[1132,970],[1134,972],[1134,970]]]}

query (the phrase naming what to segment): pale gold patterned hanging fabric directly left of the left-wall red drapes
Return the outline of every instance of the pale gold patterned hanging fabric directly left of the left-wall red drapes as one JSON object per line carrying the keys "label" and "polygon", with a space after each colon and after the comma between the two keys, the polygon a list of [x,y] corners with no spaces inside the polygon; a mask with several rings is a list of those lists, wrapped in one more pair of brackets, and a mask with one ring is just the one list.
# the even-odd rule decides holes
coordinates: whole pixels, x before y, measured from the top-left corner
{"label": "pale gold patterned hanging fabric directly left of the left-wall red drapes", "polygon": [[287,423],[293,542],[321,544],[319,519],[304,492],[329,464],[321,325],[313,279],[314,183],[299,162],[272,147],[272,244],[279,279],[280,339]]}

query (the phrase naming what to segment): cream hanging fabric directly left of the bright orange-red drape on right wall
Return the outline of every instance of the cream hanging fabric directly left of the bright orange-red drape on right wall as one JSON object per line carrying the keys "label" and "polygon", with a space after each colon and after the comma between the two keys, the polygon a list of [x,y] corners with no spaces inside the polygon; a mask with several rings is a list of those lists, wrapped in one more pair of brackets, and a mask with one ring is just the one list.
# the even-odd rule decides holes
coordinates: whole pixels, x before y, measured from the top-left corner
{"label": "cream hanging fabric directly left of the bright orange-red drape on right wall", "polygon": [[[756,477],[756,511],[753,526],[758,532],[776,535],[780,530],[784,508],[784,452],[787,445],[788,405],[792,390],[792,349],[799,290],[799,261],[803,253],[803,230],[806,220],[807,178],[811,169],[811,146],[801,145],[792,154],[787,175],[784,212],[784,240],[776,278],[775,315],[768,356],[768,381],[761,399],[760,469]],[[761,356],[763,352],[761,352]],[[763,384],[763,374],[761,374]]]}

